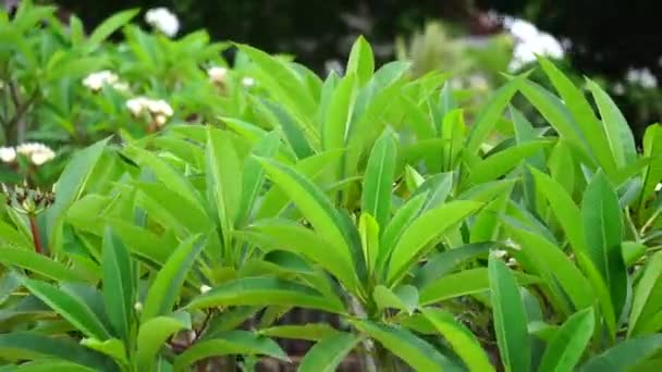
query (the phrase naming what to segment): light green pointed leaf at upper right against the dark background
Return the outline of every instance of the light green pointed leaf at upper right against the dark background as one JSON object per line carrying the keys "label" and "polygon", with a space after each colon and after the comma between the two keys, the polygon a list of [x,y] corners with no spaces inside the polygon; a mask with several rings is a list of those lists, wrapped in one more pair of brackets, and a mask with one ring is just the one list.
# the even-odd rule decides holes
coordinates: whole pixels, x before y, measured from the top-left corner
{"label": "light green pointed leaf at upper right against the dark background", "polygon": [[635,148],[635,138],[625,116],[623,116],[616,103],[598,84],[587,78],[587,85],[598,104],[598,110],[600,110],[602,124],[604,125],[606,138],[609,139],[616,165],[623,168],[633,163],[637,157],[637,150]]}

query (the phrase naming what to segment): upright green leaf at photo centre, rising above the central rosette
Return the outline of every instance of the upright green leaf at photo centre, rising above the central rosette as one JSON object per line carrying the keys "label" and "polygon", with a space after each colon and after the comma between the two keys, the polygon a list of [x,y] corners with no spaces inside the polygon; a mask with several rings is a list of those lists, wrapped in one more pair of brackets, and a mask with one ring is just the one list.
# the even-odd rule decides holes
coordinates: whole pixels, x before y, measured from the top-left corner
{"label": "upright green leaf at photo centre, rising above the central rosette", "polygon": [[372,147],[361,191],[361,211],[375,216],[380,230],[385,228],[391,212],[391,190],[395,176],[397,144],[390,129]]}

